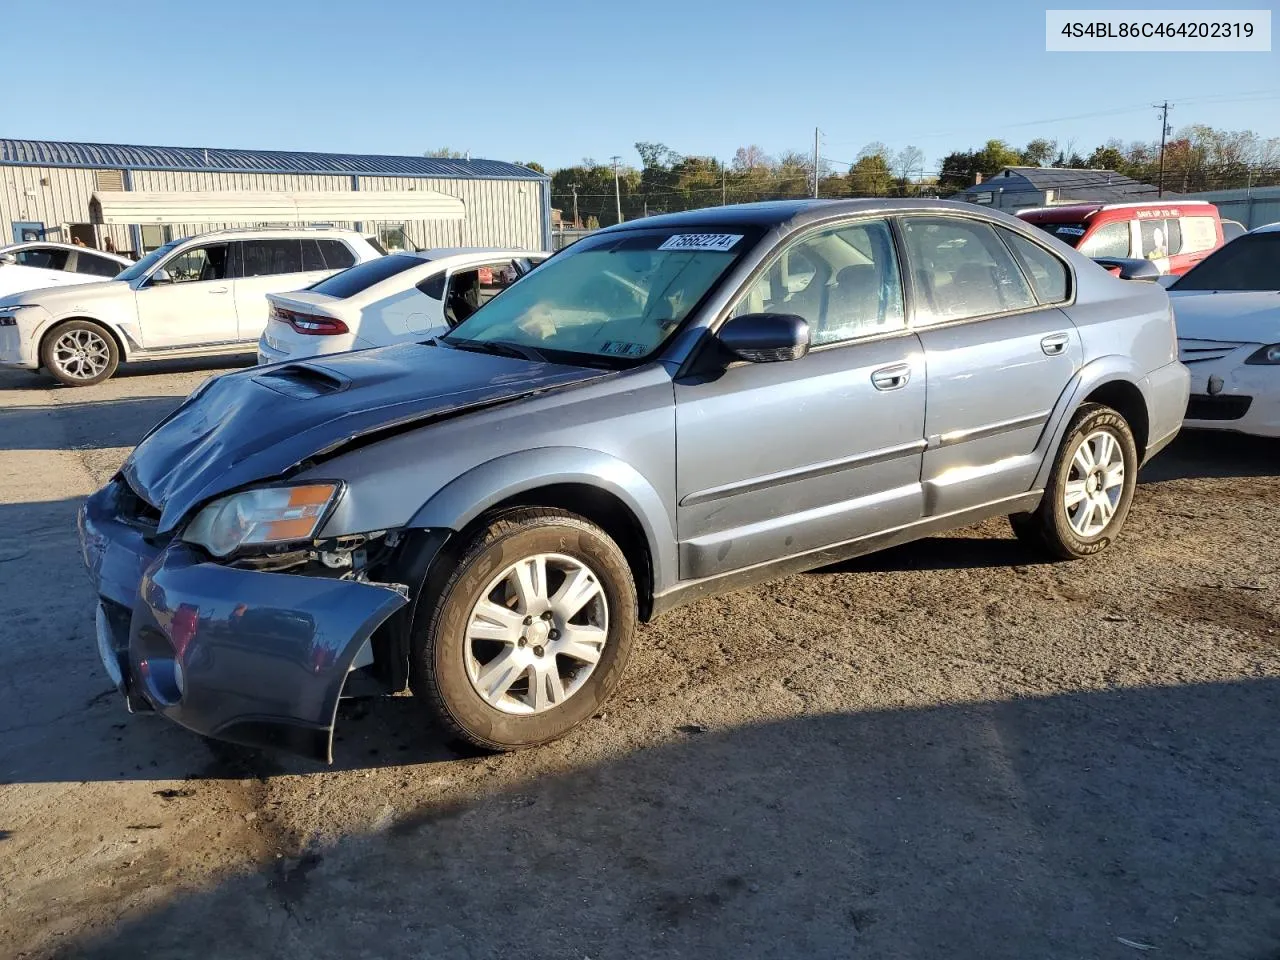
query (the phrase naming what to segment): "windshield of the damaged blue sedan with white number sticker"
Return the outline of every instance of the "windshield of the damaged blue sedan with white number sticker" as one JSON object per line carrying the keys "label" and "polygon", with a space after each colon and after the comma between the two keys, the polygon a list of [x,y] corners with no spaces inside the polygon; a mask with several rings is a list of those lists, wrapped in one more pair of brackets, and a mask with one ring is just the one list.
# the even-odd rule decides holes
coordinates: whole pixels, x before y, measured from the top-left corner
{"label": "windshield of the damaged blue sedan with white number sticker", "polygon": [[443,342],[593,366],[639,362],[676,332],[753,242],[742,229],[586,237],[485,303]]}

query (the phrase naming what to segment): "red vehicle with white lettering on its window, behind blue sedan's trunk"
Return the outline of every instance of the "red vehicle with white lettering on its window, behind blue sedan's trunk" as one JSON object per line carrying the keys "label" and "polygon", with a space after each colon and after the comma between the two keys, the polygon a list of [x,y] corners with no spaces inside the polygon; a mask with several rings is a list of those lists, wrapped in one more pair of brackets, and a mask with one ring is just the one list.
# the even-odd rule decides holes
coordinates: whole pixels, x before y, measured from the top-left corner
{"label": "red vehicle with white lettering on its window, behind blue sedan's trunk", "polygon": [[1217,207],[1203,201],[1070,204],[1019,210],[1087,257],[1142,257],[1184,274],[1222,246]]}

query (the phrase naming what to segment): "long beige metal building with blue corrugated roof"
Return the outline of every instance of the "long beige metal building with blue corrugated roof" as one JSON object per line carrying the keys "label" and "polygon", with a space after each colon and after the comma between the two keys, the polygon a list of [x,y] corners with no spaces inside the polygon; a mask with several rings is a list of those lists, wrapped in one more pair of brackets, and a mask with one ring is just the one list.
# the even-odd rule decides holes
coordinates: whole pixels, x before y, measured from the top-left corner
{"label": "long beige metal building with blue corrugated roof", "polygon": [[[378,236],[388,248],[539,250],[552,243],[550,178],[499,160],[0,138],[0,230],[4,230],[0,244],[28,238],[61,242],[79,238],[92,247],[114,246],[141,256],[174,237],[244,225],[243,221],[95,223],[93,195],[115,191],[187,195],[435,191],[462,201],[461,220],[379,219],[334,225]],[[389,216],[385,205],[372,206],[379,209],[379,216]],[[261,223],[271,223],[268,210]]]}

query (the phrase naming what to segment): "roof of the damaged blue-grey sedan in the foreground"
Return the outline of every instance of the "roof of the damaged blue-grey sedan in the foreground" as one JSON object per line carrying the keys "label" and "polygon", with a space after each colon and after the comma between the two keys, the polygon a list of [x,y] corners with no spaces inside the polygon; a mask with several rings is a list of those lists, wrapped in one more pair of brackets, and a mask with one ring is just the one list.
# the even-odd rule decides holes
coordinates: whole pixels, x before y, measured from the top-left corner
{"label": "roof of the damaged blue-grey sedan in the foreground", "polygon": [[[886,200],[883,197],[867,200],[768,200],[759,204],[732,204],[730,206],[709,206],[700,210],[685,210],[678,214],[658,214],[623,224],[605,227],[595,233],[616,233],[650,228],[687,227],[787,227],[790,229],[809,223],[828,220],[833,216],[850,216],[872,212],[965,212],[987,216],[996,220],[1011,220],[1007,214],[979,204],[966,204],[955,200]],[[1016,223],[1016,220],[1015,220]],[[595,236],[595,234],[591,234]]]}

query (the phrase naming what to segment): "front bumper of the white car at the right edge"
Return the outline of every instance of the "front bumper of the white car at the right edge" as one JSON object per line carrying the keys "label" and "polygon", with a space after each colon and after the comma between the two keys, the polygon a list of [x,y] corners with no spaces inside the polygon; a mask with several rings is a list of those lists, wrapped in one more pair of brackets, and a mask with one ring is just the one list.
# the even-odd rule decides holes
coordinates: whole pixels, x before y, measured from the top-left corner
{"label": "front bumper of the white car at the right edge", "polygon": [[[1238,352],[1248,355],[1251,349]],[[1221,387],[1211,394],[1213,378],[1221,380]],[[1189,430],[1280,436],[1280,366],[1242,364],[1234,357],[1193,364],[1192,398],[1183,425]]]}

